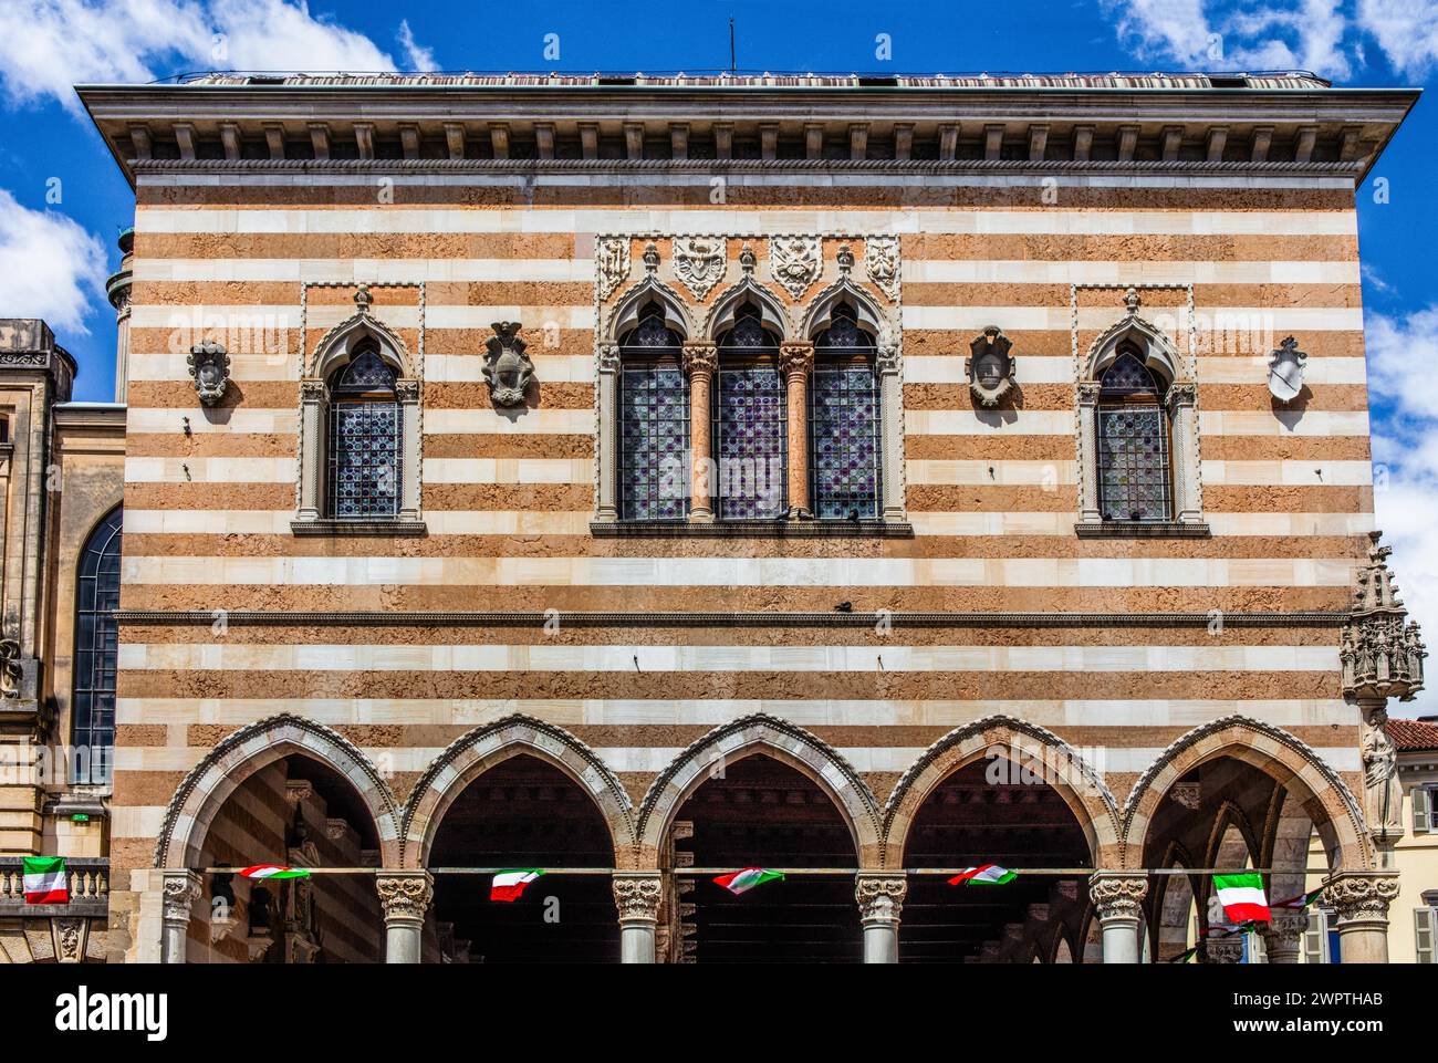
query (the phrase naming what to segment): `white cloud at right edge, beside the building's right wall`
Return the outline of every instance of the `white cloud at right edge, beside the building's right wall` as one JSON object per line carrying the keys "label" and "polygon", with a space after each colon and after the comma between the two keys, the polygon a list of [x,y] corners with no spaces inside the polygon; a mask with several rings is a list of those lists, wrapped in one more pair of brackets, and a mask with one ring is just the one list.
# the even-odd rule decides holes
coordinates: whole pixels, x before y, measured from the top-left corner
{"label": "white cloud at right edge, beside the building's right wall", "polygon": [[[1373,506],[1403,603],[1438,644],[1438,306],[1406,318],[1366,315],[1373,419]],[[1418,696],[1434,712],[1438,690]],[[1408,715],[1403,706],[1402,712]]]}

